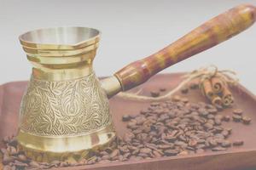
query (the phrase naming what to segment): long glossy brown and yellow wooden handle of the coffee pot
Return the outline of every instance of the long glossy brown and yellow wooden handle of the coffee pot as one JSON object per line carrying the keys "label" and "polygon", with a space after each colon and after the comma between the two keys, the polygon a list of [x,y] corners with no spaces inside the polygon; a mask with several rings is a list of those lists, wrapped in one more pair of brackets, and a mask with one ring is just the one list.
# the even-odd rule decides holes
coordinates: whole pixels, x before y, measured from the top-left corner
{"label": "long glossy brown and yellow wooden handle of the coffee pot", "polygon": [[114,76],[119,79],[123,91],[134,88],[166,67],[212,48],[246,30],[253,25],[255,20],[256,8],[254,6],[243,4],[231,8],[190,31],[156,54],[125,66]]}

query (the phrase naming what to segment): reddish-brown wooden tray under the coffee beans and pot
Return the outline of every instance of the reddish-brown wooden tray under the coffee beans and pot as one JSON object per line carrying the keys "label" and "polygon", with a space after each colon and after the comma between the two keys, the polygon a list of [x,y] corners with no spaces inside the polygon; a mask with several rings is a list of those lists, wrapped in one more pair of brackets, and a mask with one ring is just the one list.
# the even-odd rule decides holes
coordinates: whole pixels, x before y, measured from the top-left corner
{"label": "reddish-brown wooden tray under the coffee beans and pot", "polygon": [[[163,74],[150,79],[144,85],[143,94],[149,94],[150,90],[164,87],[167,90],[175,88],[181,81],[182,73]],[[18,125],[18,112],[20,100],[27,82],[9,82],[0,86],[0,139],[3,136],[15,134]],[[137,89],[133,89],[137,90]],[[154,170],[230,170],[230,169],[256,169],[256,97],[241,87],[241,85],[231,89],[236,99],[234,108],[241,108],[247,116],[252,118],[251,125],[241,123],[225,122],[226,126],[233,128],[232,139],[243,139],[245,144],[240,147],[232,147],[221,152],[207,151],[202,154],[189,156],[172,156],[154,158],[143,161],[123,161],[108,164],[96,164],[81,167],[63,167],[58,169],[154,169]],[[179,93],[177,93],[179,94]],[[199,93],[199,90],[190,90],[185,95],[191,101],[206,101]],[[110,99],[110,106],[117,133],[122,136],[125,131],[125,123],[121,122],[124,114],[137,114],[143,107],[148,106],[146,102],[137,102],[114,97]],[[223,111],[224,115],[231,115],[232,109]],[[1,169],[1,165],[0,165]]]}

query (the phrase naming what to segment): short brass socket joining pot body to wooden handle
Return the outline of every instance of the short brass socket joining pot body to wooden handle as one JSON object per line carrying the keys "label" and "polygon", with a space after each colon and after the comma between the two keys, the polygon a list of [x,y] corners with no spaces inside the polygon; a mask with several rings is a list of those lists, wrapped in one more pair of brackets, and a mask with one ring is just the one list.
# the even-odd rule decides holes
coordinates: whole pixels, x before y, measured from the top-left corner
{"label": "short brass socket joining pot body to wooden handle", "polygon": [[119,82],[119,79],[115,76],[102,79],[101,84],[103,90],[108,95],[108,99],[122,91],[121,83]]}

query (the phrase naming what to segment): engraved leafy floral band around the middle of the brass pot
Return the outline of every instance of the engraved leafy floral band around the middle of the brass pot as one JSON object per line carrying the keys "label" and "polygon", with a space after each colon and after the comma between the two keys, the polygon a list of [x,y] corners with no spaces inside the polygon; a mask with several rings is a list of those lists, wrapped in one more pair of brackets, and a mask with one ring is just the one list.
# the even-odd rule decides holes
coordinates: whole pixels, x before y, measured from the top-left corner
{"label": "engraved leafy floral band around the middle of the brass pot", "polygon": [[23,131],[41,136],[90,133],[111,123],[108,99],[95,74],[63,82],[32,77],[20,123]]}

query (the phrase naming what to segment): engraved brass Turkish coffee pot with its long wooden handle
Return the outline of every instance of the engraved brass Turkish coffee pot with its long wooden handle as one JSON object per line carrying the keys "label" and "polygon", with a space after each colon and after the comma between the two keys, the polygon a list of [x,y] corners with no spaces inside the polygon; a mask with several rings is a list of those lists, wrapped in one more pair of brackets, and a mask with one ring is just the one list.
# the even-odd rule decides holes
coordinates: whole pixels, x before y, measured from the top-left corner
{"label": "engraved brass Turkish coffee pot with its long wooden handle", "polygon": [[101,82],[92,66],[100,31],[57,27],[26,32],[20,42],[33,68],[20,105],[20,148],[37,161],[88,156],[115,137],[109,98],[224,42],[252,26],[255,19],[252,5],[231,8]]}

